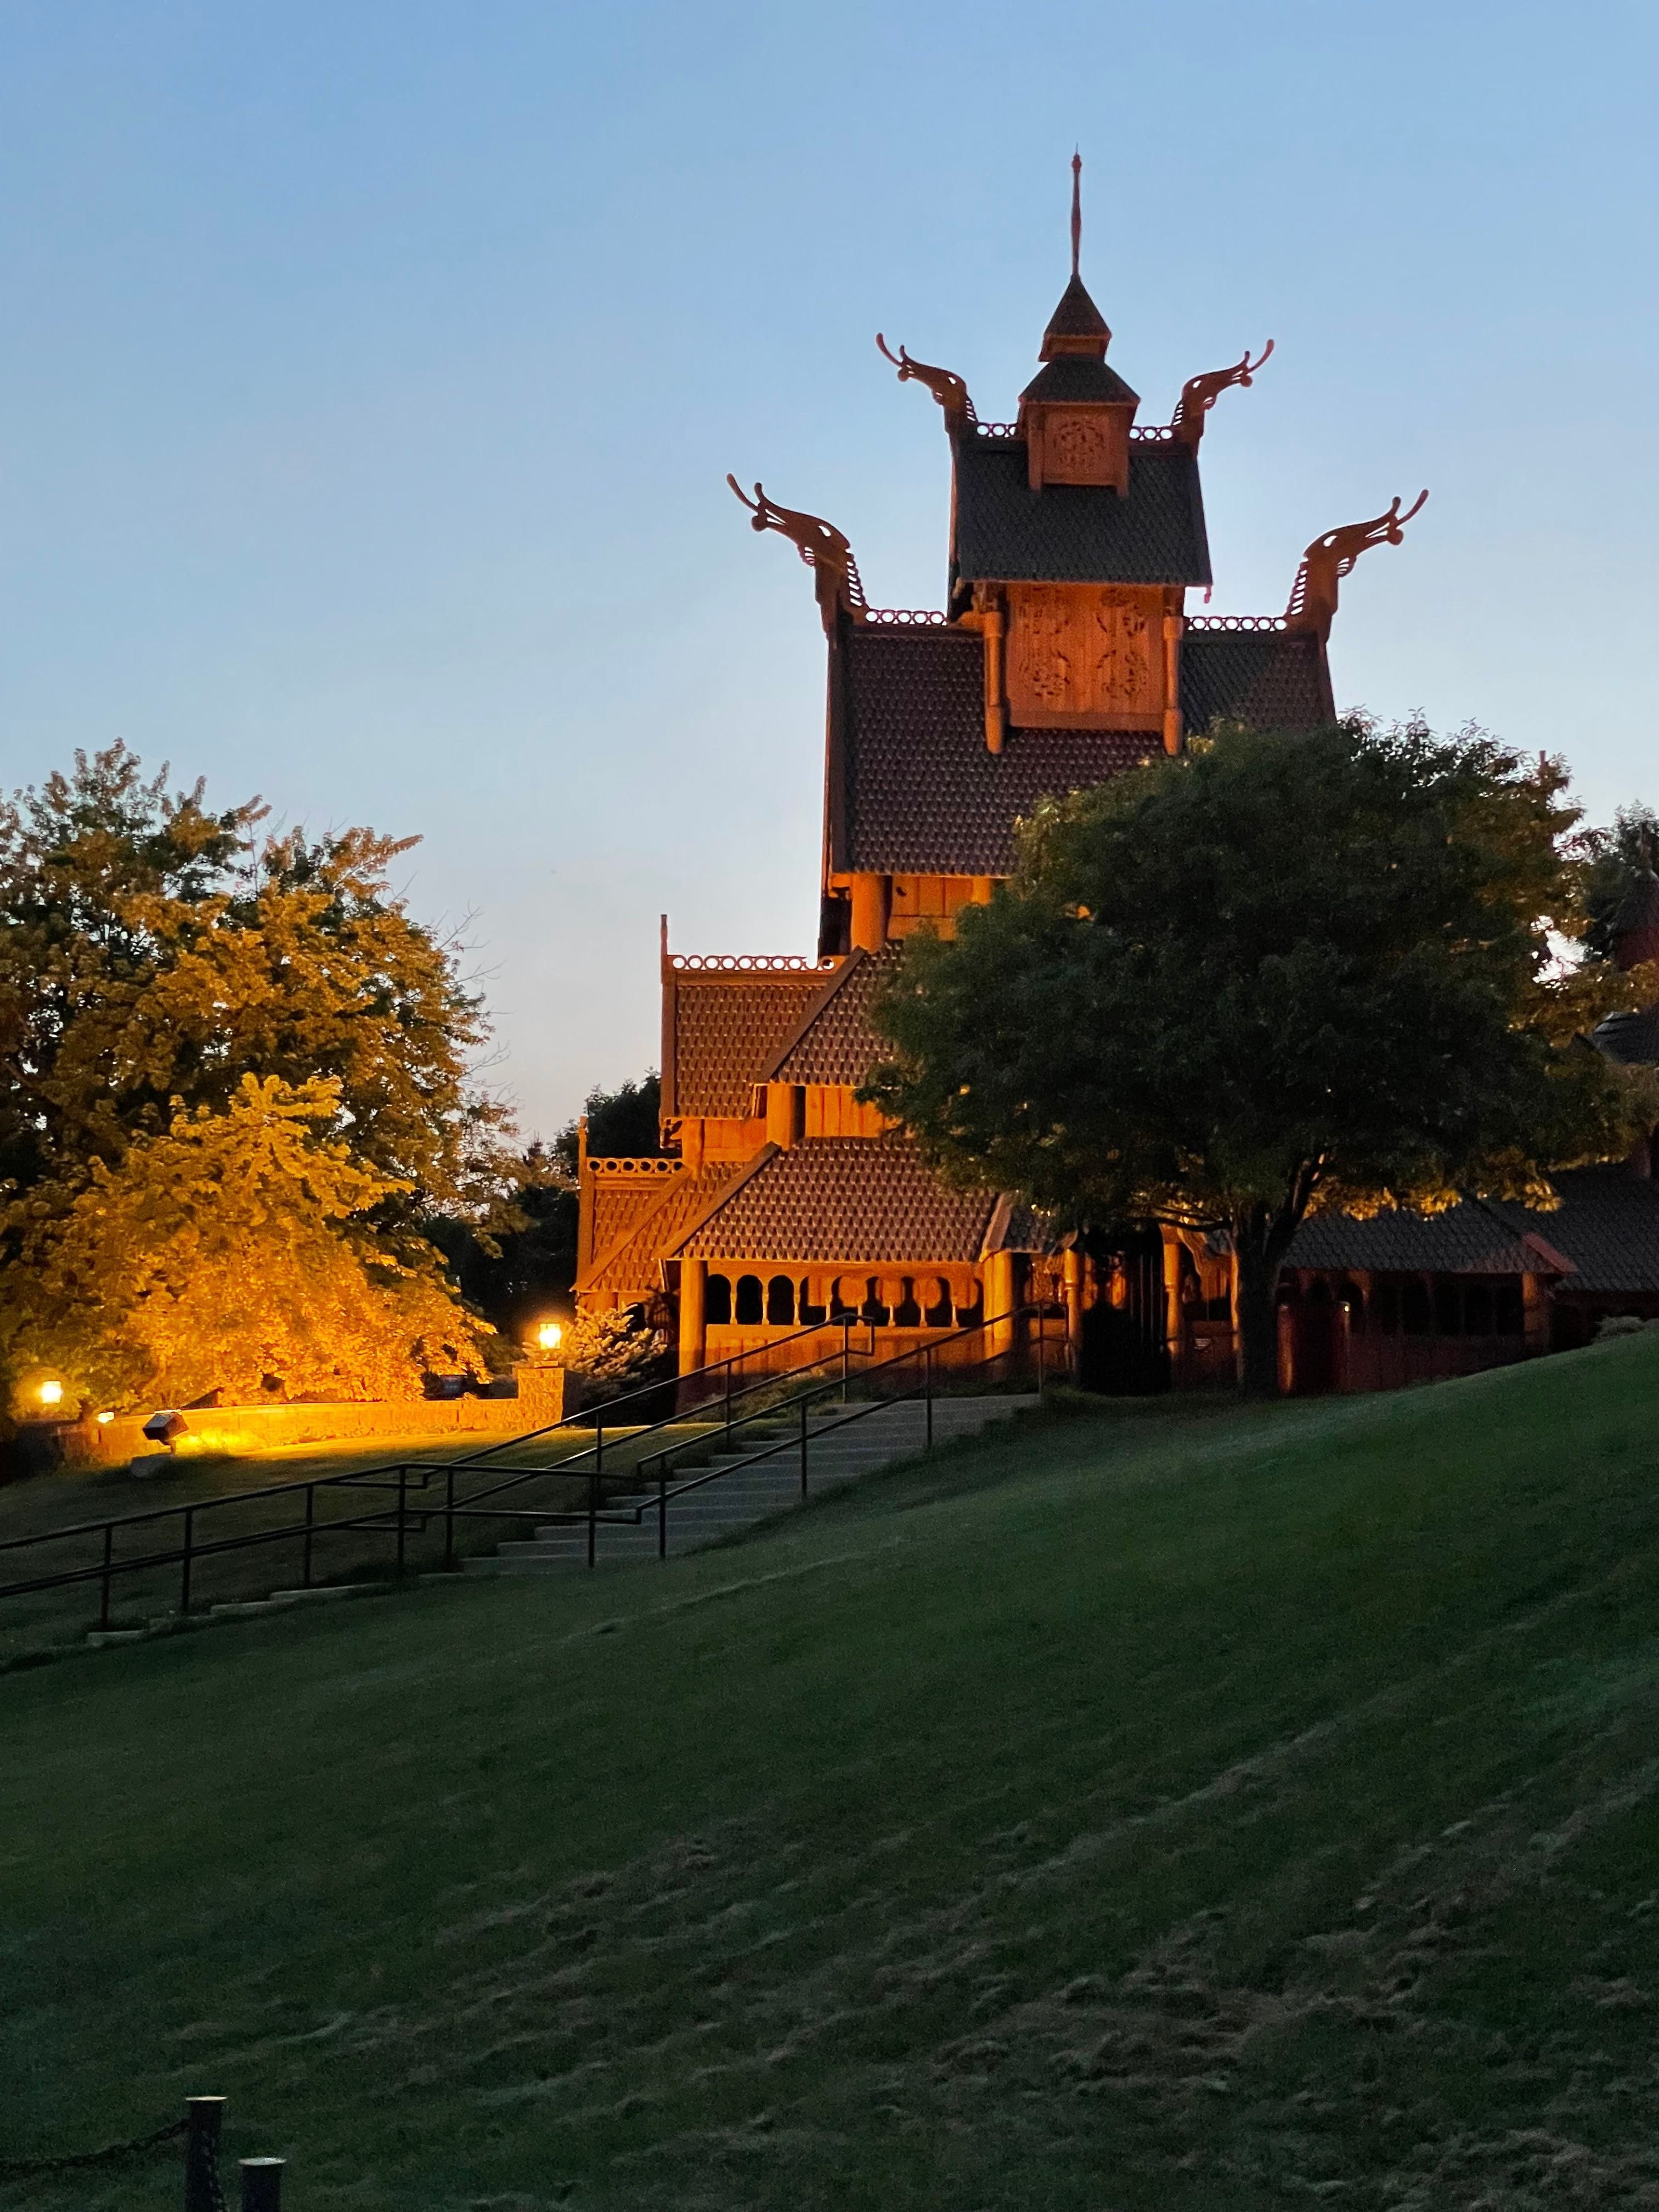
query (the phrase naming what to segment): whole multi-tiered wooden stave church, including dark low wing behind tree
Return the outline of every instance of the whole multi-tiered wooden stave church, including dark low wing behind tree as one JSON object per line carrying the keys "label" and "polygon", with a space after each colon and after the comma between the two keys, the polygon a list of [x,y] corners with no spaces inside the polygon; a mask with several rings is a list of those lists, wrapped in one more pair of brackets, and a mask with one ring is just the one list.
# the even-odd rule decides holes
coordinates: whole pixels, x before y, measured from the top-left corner
{"label": "whole multi-tiered wooden stave church, including dark low wing behind tree", "polygon": [[[905,938],[949,936],[989,900],[1040,796],[1179,754],[1219,719],[1334,717],[1340,580],[1367,549],[1398,546],[1425,498],[1314,540],[1281,615],[1197,611],[1210,414],[1272,343],[1192,376],[1168,422],[1144,422],[1082,281],[1077,173],[1071,279],[1013,420],[980,420],[958,374],[876,341],[951,449],[942,608],[872,606],[841,529],[730,480],[752,526],[810,571],[823,622],[821,929],[816,953],[686,953],[664,920],[661,1155],[580,1159],[577,1303],[666,1325],[681,1374],[734,1352],[763,1363],[783,1338],[799,1358],[801,1329],[838,1332],[849,1314],[900,1352],[1040,1305],[1095,1387],[1234,1376],[1225,1239],[1130,1225],[1055,1250],[1015,1194],[945,1188],[856,1099],[883,1051],[872,1000]],[[1579,1170],[1577,1186],[1548,1217],[1469,1201],[1433,1221],[1307,1223],[1281,1287],[1285,1387],[1522,1358],[1577,1340],[1571,1316],[1588,1327],[1597,1296],[1659,1314],[1659,1192],[1624,1170]],[[1630,1243],[1632,1203],[1644,1256],[1608,1259]],[[1588,1270],[1564,1250],[1575,1223]]]}

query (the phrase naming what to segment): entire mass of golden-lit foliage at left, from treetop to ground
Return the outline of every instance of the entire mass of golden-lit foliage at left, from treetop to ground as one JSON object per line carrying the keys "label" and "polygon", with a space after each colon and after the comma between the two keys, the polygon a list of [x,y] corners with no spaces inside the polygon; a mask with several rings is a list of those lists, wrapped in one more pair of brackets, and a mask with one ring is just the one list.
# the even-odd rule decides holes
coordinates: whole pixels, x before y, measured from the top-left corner
{"label": "entire mass of golden-lit foliage at left, from treetop to ground", "polygon": [[392,887],[414,841],[263,814],[124,745],[0,803],[0,1310],[119,1402],[476,1352],[422,1225],[511,1183],[482,1002]]}

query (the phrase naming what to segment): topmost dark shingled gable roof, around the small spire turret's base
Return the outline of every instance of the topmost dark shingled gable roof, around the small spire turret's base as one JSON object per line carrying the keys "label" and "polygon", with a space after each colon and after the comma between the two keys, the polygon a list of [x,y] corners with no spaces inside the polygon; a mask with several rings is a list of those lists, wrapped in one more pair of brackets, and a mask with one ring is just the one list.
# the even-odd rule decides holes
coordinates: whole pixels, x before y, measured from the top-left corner
{"label": "topmost dark shingled gable roof, around the small spire turret's base", "polygon": [[1128,449],[1128,493],[1102,484],[1033,491],[1024,438],[956,440],[958,577],[1033,584],[1208,584],[1199,458],[1177,440]]}

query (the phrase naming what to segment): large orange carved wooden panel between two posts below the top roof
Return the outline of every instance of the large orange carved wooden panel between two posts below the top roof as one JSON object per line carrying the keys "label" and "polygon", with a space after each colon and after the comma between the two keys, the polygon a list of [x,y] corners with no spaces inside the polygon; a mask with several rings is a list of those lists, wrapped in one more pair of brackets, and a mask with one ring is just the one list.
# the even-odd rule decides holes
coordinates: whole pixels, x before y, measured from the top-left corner
{"label": "large orange carved wooden panel between two posts below the top roof", "polygon": [[1009,584],[1006,681],[1015,728],[1159,728],[1161,593],[1133,584]]}

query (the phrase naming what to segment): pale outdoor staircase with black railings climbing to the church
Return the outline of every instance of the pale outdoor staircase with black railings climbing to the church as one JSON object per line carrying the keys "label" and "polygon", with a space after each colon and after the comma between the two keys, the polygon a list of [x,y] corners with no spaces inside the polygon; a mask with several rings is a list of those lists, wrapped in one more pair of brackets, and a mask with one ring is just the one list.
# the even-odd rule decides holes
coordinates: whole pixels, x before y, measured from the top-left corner
{"label": "pale outdoor staircase with black railings climbing to the church", "polygon": [[[975,1436],[993,1420],[1009,1420],[1013,1413],[1040,1405],[1035,1394],[1020,1398],[933,1398],[933,1442],[947,1444],[956,1436]],[[927,1449],[927,1405],[920,1398],[902,1398],[880,1405],[847,1420],[845,1407],[827,1405],[821,1413],[807,1416],[807,1495],[856,1482],[878,1467],[907,1460]],[[730,1473],[728,1473],[730,1469]],[[719,1480],[699,1480],[719,1478]],[[801,1504],[801,1427],[799,1420],[779,1431],[776,1444],[748,1429],[741,1451],[719,1453],[701,1467],[690,1467],[679,1458],[670,1473],[670,1486],[699,1480],[699,1486],[668,1500],[668,1551],[699,1551],[739,1528],[774,1513],[785,1513]],[[622,1498],[606,1498],[604,1513],[633,1513],[639,1522],[602,1520],[595,1528],[595,1566],[622,1566],[633,1559],[657,1557],[657,1493],[655,1489],[630,1491]],[[498,1544],[493,1555],[467,1559],[469,1575],[557,1575],[573,1566],[588,1564],[588,1524],[551,1522],[533,1537],[515,1544]]]}

